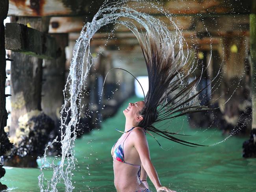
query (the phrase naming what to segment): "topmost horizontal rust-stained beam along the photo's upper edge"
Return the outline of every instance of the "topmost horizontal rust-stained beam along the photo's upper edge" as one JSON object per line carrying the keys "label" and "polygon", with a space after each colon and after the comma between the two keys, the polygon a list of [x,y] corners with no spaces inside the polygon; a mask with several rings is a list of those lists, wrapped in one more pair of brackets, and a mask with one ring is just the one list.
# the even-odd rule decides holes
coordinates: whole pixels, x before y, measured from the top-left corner
{"label": "topmost horizontal rust-stained beam along the photo's upper edge", "polygon": [[[95,15],[104,0],[10,0],[8,15],[17,16],[70,16]],[[252,1],[243,0],[170,0],[156,3],[165,7],[167,13],[172,14],[249,14]],[[134,6],[128,2],[126,6]],[[137,11],[159,14],[160,11],[147,2],[136,3]]]}

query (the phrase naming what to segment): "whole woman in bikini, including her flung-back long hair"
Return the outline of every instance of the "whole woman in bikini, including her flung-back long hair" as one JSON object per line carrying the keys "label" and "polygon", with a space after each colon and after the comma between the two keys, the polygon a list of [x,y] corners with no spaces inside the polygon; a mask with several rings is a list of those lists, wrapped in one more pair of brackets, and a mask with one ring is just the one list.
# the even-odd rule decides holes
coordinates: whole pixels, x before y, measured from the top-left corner
{"label": "whole woman in bikini, including her flung-back long hair", "polygon": [[178,53],[174,56],[174,42],[153,29],[148,29],[145,36],[137,31],[134,31],[134,34],[139,40],[145,58],[149,86],[144,101],[129,103],[123,111],[126,117],[125,129],[111,150],[115,187],[118,192],[148,192],[148,176],[157,192],[174,192],[161,186],[150,161],[145,133],[151,131],[187,146],[202,146],[173,137],[179,134],[161,130],[154,124],[177,116],[208,110],[208,107],[200,106],[198,101],[198,94],[204,89],[195,91],[198,78],[186,83],[193,69],[186,65],[187,59],[182,54],[181,44]]}

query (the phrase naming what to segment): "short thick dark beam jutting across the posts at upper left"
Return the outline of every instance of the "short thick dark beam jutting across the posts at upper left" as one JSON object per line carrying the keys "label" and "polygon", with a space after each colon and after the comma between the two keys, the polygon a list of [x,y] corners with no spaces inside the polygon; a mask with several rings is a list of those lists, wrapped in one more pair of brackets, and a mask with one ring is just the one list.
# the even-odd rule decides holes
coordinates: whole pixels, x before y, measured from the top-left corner
{"label": "short thick dark beam jutting across the posts at upper left", "polygon": [[53,37],[23,24],[6,24],[6,49],[39,58],[55,58],[56,42]]}

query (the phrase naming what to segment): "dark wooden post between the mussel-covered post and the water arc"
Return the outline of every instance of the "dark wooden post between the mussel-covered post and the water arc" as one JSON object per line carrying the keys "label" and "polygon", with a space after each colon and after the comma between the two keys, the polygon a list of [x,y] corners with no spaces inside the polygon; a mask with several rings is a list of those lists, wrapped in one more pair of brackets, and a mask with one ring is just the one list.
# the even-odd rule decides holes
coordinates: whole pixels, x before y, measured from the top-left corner
{"label": "dark wooden post between the mussel-covered post and the water arc", "polygon": [[63,89],[65,85],[65,47],[68,46],[68,34],[51,34],[58,45],[58,55],[56,59],[45,59],[43,67],[42,85],[42,109],[50,116],[56,126],[59,122],[59,112],[63,104]]}

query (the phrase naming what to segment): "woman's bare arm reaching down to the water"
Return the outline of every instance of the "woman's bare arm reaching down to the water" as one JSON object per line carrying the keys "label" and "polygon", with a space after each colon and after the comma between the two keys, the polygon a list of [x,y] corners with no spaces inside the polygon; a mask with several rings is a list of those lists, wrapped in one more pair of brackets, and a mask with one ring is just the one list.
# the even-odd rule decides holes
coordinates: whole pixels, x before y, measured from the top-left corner
{"label": "woman's bare arm reaching down to the water", "polygon": [[139,153],[139,157],[141,159],[141,164],[144,170],[147,172],[149,179],[152,181],[158,192],[167,191],[167,192],[175,192],[161,185],[158,174],[150,160],[149,150],[148,150],[148,142],[143,129],[134,129],[133,131],[133,142],[134,147]]}

